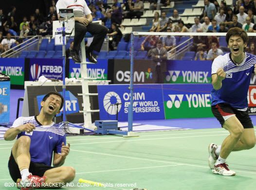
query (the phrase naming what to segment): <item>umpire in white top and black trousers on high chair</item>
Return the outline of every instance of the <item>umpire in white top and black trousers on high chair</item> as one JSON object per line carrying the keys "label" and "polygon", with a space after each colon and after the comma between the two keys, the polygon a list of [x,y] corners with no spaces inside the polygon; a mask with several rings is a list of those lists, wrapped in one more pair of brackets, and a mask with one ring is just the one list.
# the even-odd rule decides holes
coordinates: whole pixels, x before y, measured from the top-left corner
{"label": "umpire in white top and black trousers on high chair", "polygon": [[93,35],[91,45],[86,50],[86,57],[92,63],[97,63],[92,52],[100,52],[108,28],[92,22],[91,10],[87,6],[85,0],[58,0],[56,9],[59,18],[59,9],[73,9],[75,26],[74,26],[74,47],[71,51],[71,57],[76,63],[81,63],[79,56],[80,44],[86,35],[86,32]]}

